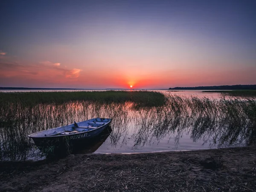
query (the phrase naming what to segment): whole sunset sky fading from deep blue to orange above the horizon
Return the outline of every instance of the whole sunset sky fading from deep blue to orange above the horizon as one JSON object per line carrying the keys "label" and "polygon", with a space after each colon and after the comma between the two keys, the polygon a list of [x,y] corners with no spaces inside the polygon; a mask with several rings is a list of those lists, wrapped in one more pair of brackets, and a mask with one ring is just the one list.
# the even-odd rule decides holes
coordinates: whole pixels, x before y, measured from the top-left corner
{"label": "whole sunset sky fading from deep blue to orange above the horizon", "polygon": [[256,0],[2,0],[0,87],[256,84]]}

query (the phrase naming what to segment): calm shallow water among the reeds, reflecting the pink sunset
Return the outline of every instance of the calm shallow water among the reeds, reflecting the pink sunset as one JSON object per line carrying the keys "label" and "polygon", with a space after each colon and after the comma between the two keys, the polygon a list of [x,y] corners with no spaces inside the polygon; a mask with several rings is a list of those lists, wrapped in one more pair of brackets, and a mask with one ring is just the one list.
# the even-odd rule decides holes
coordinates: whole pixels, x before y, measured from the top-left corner
{"label": "calm shallow water among the reeds, reflecting the pink sunset", "polygon": [[[255,114],[247,113],[250,109],[244,104],[240,106],[241,101],[222,100],[218,93],[159,91],[171,95],[162,107],[136,108],[130,102],[111,105],[70,102],[2,111],[5,116],[1,116],[1,122],[6,122],[6,118],[13,120],[1,124],[1,159],[41,159],[38,156],[40,151],[27,138],[28,134],[95,117],[112,118],[111,131],[82,153],[138,153],[254,145]],[[254,107],[255,100],[250,102]]]}

